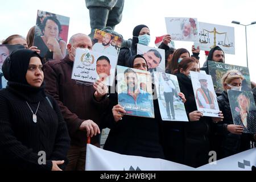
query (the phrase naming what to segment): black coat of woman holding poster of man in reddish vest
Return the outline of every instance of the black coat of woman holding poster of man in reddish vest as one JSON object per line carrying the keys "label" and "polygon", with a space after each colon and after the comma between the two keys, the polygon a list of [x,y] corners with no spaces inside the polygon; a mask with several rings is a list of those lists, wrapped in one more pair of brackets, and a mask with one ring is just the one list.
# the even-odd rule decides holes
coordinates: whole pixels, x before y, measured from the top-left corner
{"label": "black coat of woman holding poster of man in reddish vest", "polygon": [[[187,114],[197,110],[195,96],[193,94],[192,82],[183,73],[177,73],[177,80],[179,81],[180,92],[184,93],[187,101],[185,102],[185,109]],[[175,122],[170,123],[169,129],[171,131],[170,142],[167,149],[165,147],[165,154],[168,149],[172,151],[172,158],[178,156],[179,163],[187,166],[199,167],[208,163],[209,159],[209,117],[203,117],[197,122]],[[164,139],[166,139],[167,126],[164,132]],[[165,145],[166,145],[165,143]],[[178,162],[177,160],[172,160]]]}

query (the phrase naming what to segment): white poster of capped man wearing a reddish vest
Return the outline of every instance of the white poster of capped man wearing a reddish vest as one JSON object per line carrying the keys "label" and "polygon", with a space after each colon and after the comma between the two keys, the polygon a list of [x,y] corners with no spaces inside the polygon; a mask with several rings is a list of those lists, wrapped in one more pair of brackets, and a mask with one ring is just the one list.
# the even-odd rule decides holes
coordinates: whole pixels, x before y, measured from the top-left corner
{"label": "white poster of capped man wearing a reddish vest", "polygon": [[197,110],[204,116],[219,117],[220,109],[214,92],[212,77],[190,71]]}

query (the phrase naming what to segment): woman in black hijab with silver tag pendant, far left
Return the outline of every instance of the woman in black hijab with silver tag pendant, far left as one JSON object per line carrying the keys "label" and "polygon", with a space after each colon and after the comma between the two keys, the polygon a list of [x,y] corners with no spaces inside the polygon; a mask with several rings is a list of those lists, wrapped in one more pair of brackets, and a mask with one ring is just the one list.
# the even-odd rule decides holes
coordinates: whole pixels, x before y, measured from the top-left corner
{"label": "woman in black hijab with silver tag pendant, far left", "polygon": [[59,106],[44,92],[40,56],[18,49],[2,70],[8,83],[0,90],[0,168],[63,169],[70,139]]}

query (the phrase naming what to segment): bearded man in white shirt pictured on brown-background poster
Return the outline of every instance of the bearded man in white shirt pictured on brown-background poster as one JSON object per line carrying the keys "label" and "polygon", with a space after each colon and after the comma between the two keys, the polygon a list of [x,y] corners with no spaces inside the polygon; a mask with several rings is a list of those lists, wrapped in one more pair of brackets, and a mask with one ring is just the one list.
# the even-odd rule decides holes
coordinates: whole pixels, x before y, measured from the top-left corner
{"label": "bearded man in white shirt pictured on brown-background poster", "polygon": [[117,49],[112,46],[112,41],[114,36],[109,34],[108,32],[102,38],[102,43],[96,43],[93,46],[93,51],[106,53],[107,55],[117,56]]}

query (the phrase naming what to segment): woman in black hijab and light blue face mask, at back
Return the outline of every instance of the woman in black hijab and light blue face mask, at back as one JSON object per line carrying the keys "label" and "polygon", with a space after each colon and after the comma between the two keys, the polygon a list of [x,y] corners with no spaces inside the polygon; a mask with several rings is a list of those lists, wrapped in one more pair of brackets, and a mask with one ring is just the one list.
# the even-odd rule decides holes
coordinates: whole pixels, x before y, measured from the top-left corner
{"label": "woman in black hijab and light blue face mask, at back", "polygon": [[131,43],[131,48],[122,47],[119,55],[117,65],[125,65],[126,61],[130,59],[131,56],[137,55],[137,44],[143,44],[148,46],[150,42],[150,30],[144,24],[136,26],[133,30],[133,41]]}

